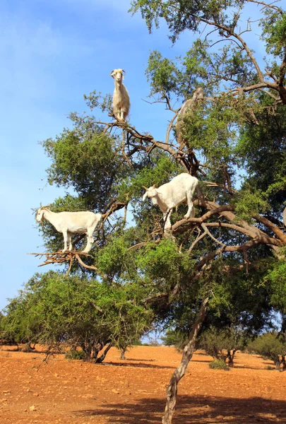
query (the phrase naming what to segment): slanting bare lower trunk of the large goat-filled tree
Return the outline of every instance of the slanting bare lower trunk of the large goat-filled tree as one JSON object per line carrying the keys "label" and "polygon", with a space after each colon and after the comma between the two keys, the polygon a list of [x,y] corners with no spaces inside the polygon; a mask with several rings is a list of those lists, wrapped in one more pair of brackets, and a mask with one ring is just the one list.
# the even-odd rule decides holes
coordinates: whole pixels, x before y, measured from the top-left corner
{"label": "slanting bare lower trunk of the large goat-filled tree", "polygon": [[162,424],[172,424],[172,418],[174,416],[174,408],[177,402],[177,391],[178,391],[178,383],[182,377],[184,377],[186,373],[186,368],[189,365],[189,362],[193,356],[193,351],[196,347],[196,339],[198,337],[198,333],[203,325],[203,321],[205,319],[206,306],[208,304],[208,298],[205,298],[201,304],[200,312],[198,313],[198,317],[196,322],[193,324],[191,329],[191,334],[189,336],[189,342],[184,347],[183,355],[181,357],[181,363],[179,367],[174,371],[172,375],[169,386],[167,387],[167,402],[165,406],[165,414],[162,418]]}

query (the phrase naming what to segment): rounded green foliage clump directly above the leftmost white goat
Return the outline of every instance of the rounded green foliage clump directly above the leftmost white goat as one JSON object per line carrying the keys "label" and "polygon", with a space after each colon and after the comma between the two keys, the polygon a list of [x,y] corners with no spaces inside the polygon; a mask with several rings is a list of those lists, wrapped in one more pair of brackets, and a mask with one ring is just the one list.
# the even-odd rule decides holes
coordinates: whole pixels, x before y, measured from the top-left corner
{"label": "rounded green foliage clump directly above the leftmost white goat", "polygon": [[52,160],[47,170],[49,184],[73,187],[85,196],[90,208],[101,210],[112,196],[114,179],[120,177],[118,146],[96,128],[85,138],[76,130],[65,130],[55,140],[42,143]]}

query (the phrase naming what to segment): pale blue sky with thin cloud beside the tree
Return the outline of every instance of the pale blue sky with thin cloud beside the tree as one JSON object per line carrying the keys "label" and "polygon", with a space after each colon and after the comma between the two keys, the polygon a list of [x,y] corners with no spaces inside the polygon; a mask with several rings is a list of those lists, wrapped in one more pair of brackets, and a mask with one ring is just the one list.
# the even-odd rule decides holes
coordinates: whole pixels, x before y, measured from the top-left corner
{"label": "pale blue sky with thin cloud beside the tree", "polygon": [[153,49],[169,58],[184,54],[192,35],[172,47],[163,23],[149,35],[140,14],[127,13],[129,7],[130,0],[1,1],[0,310],[35,272],[48,270],[27,255],[44,251],[31,208],[52,203],[64,190],[47,184],[49,160],[39,141],[68,126],[69,112],[87,110],[83,94],[112,93],[109,74],[123,68],[131,124],[165,138],[170,112],[143,100],[149,93],[148,56]]}

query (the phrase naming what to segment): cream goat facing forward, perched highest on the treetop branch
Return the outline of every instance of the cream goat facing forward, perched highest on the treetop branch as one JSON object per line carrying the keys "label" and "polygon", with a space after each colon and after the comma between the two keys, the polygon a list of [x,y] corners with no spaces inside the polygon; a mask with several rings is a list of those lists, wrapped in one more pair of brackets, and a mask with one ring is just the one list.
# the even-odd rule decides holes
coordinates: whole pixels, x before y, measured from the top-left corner
{"label": "cream goat facing forward, perched highest on the treetop branch", "polygon": [[122,83],[124,80],[124,69],[114,69],[110,73],[114,78],[113,113],[118,121],[125,121],[130,109],[129,93]]}

